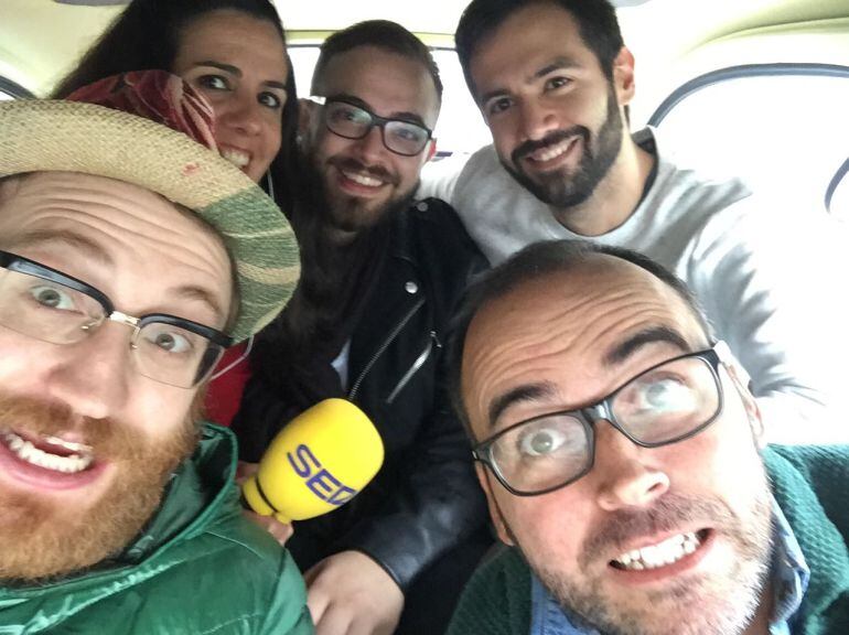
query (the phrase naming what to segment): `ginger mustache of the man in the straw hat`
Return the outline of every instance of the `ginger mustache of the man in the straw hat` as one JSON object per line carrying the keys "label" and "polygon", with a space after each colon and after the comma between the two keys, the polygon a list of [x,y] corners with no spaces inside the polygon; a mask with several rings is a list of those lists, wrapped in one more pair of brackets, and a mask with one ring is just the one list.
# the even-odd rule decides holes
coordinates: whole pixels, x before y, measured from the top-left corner
{"label": "ginger mustache of the man in the straw hat", "polygon": [[143,459],[148,450],[144,434],[131,426],[109,418],[80,417],[63,403],[0,392],[0,431],[3,430],[36,438],[61,437],[73,430],[92,448],[95,458],[111,461]]}

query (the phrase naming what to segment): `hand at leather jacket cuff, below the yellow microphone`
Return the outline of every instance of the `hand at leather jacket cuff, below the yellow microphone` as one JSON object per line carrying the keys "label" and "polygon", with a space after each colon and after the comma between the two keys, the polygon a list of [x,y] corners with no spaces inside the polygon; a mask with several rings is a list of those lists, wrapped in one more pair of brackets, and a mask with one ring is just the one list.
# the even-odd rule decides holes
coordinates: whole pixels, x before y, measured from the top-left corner
{"label": "hand at leather jacket cuff, below the yellow microphone", "polygon": [[404,593],[365,553],[330,556],[304,579],[315,635],[391,635],[398,625]]}

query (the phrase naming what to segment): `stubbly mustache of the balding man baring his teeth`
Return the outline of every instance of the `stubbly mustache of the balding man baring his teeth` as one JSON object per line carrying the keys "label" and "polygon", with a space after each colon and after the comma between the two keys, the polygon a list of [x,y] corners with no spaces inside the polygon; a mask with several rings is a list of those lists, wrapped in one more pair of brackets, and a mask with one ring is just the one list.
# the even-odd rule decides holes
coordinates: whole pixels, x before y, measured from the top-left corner
{"label": "stubbly mustache of the balding man baring his teeth", "polygon": [[645,536],[680,530],[703,520],[714,527],[733,527],[737,516],[721,502],[688,498],[667,494],[646,509],[619,509],[609,514],[603,524],[585,540],[579,563],[585,568],[592,557],[605,550],[624,550],[627,542]]}

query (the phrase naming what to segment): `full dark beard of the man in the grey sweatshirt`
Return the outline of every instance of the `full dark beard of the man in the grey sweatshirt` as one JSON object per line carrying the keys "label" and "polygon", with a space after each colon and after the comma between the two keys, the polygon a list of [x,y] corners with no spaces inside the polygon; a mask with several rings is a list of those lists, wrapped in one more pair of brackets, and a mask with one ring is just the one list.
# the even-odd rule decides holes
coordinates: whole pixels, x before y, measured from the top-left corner
{"label": "full dark beard of the man in the grey sweatshirt", "polygon": [[[511,153],[509,162],[502,159],[502,165],[534,196],[556,208],[567,209],[584,203],[595,192],[619,157],[622,136],[622,115],[616,94],[610,85],[608,114],[594,139],[591,138],[589,128],[572,126],[551,132],[539,141],[525,141]],[[523,170],[523,157],[572,137],[580,137],[583,147],[581,160],[573,171],[561,169],[530,175]]]}

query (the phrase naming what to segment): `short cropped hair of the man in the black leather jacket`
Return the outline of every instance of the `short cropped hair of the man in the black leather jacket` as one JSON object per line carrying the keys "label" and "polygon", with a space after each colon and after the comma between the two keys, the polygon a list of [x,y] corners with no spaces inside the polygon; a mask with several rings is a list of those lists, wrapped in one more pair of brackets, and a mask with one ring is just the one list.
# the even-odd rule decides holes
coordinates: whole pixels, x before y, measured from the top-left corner
{"label": "short cropped hair of the man in the black leather jacket", "polygon": [[358,49],[359,46],[375,46],[413,62],[419,62],[428,69],[430,77],[433,79],[433,86],[437,88],[437,97],[442,100],[442,79],[439,77],[439,67],[433,61],[430,49],[416,35],[407,31],[407,29],[388,20],[358,22],[327,37],[321,45],[321,54],[312,75],[313,93],[318,90],[324,69],[333,56]]}

